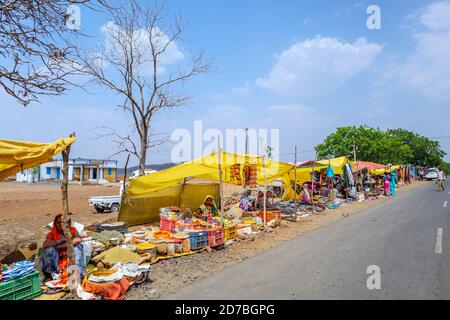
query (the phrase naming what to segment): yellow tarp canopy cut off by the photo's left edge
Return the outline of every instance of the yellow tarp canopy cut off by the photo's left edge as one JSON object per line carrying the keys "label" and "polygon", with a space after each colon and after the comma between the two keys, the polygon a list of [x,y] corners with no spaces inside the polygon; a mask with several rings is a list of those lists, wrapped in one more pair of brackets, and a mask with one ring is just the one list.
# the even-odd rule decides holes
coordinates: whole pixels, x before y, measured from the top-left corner
{"label": "yellow tarp canopy cut off by the photo's left edge", "polygon": [[53,156],[75,141],[75,137],[52,143],[0,140],[0,181],[17,172],[53,161]]}

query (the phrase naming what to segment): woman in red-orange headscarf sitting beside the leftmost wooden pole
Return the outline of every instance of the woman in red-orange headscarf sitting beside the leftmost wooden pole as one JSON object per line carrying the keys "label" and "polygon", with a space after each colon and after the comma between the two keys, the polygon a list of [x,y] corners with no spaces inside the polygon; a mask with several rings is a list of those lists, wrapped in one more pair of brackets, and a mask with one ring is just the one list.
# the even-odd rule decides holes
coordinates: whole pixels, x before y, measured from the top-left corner
{"label": "woman in red-orange headscarf sitting beside the leftmost wooden pole", "polygon": [[[72,224],[71,220],[69,223]],[[75,261],[80,269],[81,276],[85,272],[85,258],[83,252],[83,244],[77,229],[70,227],[71,241],[74,246]],[[40,260],[40,266],[46,279],[51,278],[52,273],[61,274],[69,266],[67,258],[67,243],[64,238],[62,215],[59,214],[53,220],[52,230],[48,233],[47,238],[42,245],[44,253]]]}

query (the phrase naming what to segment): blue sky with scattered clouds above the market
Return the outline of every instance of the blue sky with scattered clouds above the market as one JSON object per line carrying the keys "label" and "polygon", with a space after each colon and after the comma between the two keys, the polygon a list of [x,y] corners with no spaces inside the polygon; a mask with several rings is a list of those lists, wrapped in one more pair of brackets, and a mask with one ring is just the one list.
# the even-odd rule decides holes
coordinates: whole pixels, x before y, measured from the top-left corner
{"label": "blue sky with scattered clouds above the market", "polygon": [[[381,30],[366,26],[366,9],[381,8]],[[216,72],[187,87],[189,105],[161,114],[155,130],[280,129],[281,160],[294,145],[311,150],[336,127],[405,128],[428,137],[450,135],[450,1],[186,1],[164,2],[167,16],[187,23],[186,49],[203,49]],[[105,41],[106,17],[82,9],[81,26]],[[170,21],[170,20],[168,20]],[[0,136],[52,141],[76,132],[72,156],[106,158],[115,146],[92,130],[127,131],[119,97],[73,89],[24,109],[0,93]],[[450,154],[450,139],[440,141]],[[150,150],[149,163],[170,161],[170,148]],[[302,153],[308,160],[313,152]],[[116,156],[123,165],[124,156]],[[450,160],[450,156],[447,156]],[[136,163],[136,161],[133,161]]]}

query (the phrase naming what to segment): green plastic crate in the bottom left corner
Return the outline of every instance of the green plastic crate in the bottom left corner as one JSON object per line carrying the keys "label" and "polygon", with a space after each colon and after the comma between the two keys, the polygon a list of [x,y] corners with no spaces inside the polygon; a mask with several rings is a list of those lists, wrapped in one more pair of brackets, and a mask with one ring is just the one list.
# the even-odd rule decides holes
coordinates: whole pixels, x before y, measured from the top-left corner
{"label": "green plastic crate in the bottom left corner", "polygon": [[0,283],[0,300],[28,300],[41,295],[39,272]]}

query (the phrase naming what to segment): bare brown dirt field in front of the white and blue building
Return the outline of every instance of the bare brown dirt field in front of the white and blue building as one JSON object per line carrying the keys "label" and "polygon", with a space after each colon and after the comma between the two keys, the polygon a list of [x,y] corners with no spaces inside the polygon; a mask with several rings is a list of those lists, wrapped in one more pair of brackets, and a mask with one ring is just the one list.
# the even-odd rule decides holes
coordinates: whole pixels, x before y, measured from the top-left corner
{"label": "bare brown dirt field in front of the white and blue building", "polygon": [[[119,184],[69,185],[69,208],[73,220],[90,225],[117,218],[117,214],[97,214],[89,206],[90,196],[119,194]],[[58,183],[0,183],[0,257],[15,247],[40,241],[39,229],[61,212],[61,188]]]}

